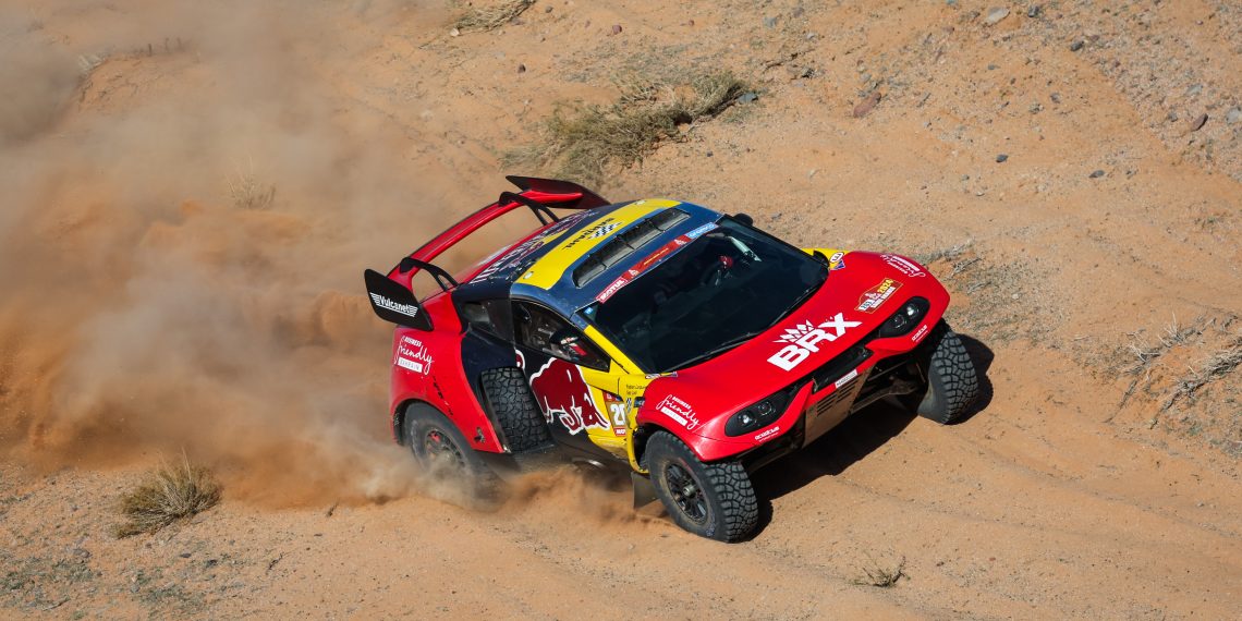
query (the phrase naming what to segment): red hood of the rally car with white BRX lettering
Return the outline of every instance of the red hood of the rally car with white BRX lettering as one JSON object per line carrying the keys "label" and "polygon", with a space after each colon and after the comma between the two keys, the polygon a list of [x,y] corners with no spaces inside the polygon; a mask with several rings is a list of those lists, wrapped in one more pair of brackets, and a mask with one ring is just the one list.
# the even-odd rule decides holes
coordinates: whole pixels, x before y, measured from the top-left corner
{"label": "red hood of the rally car with white BRX lettering", "polygon": [[[879,328],[915,296],[930,302],[924,325],[939,320],[949,304],[949,293],[940,282],[914,261],[898,255],[850,252],[835,263],[820,291],[763,334],[653,380],[643,395],[638,422],[646,422],[646,417],[676,431],[682,427],[700,436],[740,440],[724,433],[730,415],[804,380]],[[873,343],[881,340],[902,342],[887,344],[884,349],[891,353],[915,347],[908,335]]]}

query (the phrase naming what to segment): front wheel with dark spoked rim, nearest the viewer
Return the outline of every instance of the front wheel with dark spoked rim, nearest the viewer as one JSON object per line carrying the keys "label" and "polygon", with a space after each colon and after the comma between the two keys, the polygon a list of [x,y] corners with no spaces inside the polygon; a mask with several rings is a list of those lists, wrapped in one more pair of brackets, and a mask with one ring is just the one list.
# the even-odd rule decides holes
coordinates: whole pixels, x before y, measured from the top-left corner
{"label": "front wheel with dark spoked rim, nearest the viewer", "polygon": [[[647,441],[643,465],[668,515],[686,530],[718,542],[737,542],[759,523],[759,501],[741,463],[703,463],[676,436],[657,431]],[[696,486],[689,494],[694,501],[683,493],[686,486],[681,492],[671,489],[671,481],[683,474]],[[691,504],[691,510],[683,504]]]}

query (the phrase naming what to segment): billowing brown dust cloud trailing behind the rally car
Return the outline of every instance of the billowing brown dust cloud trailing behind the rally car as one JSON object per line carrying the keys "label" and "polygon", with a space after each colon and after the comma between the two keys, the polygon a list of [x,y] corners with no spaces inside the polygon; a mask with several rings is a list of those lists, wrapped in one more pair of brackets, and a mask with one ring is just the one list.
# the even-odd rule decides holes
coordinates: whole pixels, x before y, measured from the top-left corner
{"label": "billowing brown dust cloud trailing behind the rally car", "polygon": [[281,505],[414,489],[360,273],[448,216],[410,200],[420,171],[392,120],[334,89],[360,51],[328,22],[412,4],[15,5],[0,4],[0,455],[185,450],[230,496]]}

